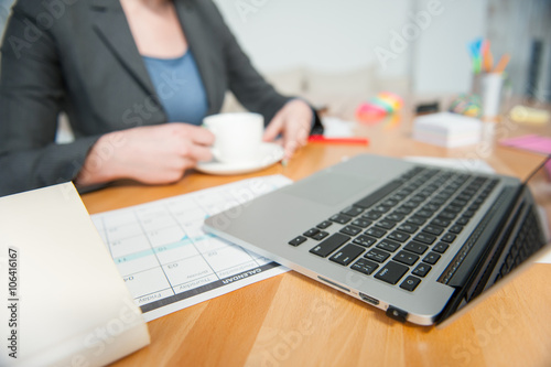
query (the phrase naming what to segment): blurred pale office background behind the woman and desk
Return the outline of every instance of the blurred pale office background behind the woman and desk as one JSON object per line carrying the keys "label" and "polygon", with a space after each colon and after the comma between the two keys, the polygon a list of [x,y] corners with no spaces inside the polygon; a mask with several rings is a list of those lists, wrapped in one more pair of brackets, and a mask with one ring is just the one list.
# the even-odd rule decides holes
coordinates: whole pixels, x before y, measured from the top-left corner
{"label": "blurred pale office background behind the woman and desk", "polygon": [[[316,104],[352,107],[380,90],[466,93],[467,44],[479,36],[496,63],[511,54],[515,95],[551,100],[551,0],[215,2],[260,72]],[[2,30],[11,3],[0,0]]]}

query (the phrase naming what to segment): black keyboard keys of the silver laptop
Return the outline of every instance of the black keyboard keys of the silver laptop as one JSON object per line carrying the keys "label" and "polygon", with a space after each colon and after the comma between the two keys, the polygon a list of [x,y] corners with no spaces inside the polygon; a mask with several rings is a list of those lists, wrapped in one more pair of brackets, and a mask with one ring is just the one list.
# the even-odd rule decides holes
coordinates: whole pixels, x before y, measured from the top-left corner
{"label": "black keyboard keys of the silver laptop", "polygon": [[415,166],[289,245],[412,292],[497,183]]}

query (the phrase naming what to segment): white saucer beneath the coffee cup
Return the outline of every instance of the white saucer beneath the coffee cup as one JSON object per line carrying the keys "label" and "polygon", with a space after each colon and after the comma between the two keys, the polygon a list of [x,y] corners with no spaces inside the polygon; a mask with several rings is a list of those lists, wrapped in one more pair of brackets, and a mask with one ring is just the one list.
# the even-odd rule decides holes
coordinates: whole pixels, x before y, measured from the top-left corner
{"label": "white saucer beneath the coffee cup", "polygon": [[208,174],[230,175],[242,174],[266,169],[283,158],[283,148],[276,143],[263,142],[258,158],[245,163],[223,163],[218,161],[198,163],[197,171]]}

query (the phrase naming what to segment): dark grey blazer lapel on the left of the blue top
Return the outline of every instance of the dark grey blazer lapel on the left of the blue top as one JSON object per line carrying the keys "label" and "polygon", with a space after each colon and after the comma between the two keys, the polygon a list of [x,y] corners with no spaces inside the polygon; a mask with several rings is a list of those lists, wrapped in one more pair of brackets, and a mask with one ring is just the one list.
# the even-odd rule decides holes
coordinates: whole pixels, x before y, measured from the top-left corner
{"label": "dark grey blazer lapel on the left of the blue top", "polygon": [[127,67],[148,96],[156,98],[155,88],[133,41],[127,18],[117,0],[93,0],[90,4],[95,31],[109,50]]}

